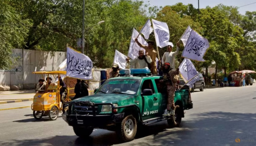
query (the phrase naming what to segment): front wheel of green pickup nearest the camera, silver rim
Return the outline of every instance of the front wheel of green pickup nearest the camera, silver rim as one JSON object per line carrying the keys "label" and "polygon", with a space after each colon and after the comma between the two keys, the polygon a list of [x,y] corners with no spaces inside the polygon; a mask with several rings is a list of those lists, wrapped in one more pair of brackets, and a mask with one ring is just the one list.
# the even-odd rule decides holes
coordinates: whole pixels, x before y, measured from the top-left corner
{"label": "front wheel of green pickup nearest the camera, silver rim", "polygon": [[137,132],[137,122],[132,115],[126,116],[121,122],[120,127],[117,127],[117,135],[124,142],[132,141]]}

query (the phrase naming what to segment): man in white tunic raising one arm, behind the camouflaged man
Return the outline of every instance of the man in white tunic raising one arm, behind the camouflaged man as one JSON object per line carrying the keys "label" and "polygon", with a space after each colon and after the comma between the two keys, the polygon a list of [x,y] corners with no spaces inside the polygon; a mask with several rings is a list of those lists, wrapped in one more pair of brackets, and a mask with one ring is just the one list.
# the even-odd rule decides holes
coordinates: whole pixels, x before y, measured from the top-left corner
{"label": "man in white tunic raising one arm, behind the camouflaged man", "polygon": [[180,43],[177,43],[176,45],[176,51],[172,52],[172,46],[168,45],[167,46],[167,51],[165,52],[165,54],[163,54],[162,57],[162,64],[165,64],[166,62],[170,64],[170,67],[172,69],[175,69],[175,57],[178,55],[179,53],[179,47],[180,47]]}

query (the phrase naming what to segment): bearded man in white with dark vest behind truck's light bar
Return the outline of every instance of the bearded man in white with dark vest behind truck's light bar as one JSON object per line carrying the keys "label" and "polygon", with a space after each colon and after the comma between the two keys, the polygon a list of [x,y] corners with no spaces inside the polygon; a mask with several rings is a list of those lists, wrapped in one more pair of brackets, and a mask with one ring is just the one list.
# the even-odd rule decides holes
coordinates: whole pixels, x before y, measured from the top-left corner
{"label": "bearded man in white with dark vest behind truck's light bar", "polygon": [[130,61],[129,58],[126,58],[126,61],[127,63],[135,64],[136,69],[142,69],[148,67],[148,65],[152,62],[152,59],[148,53],[144,55],[144,51],[139,50],[139,56],[137,58],[133,59],[132,61]]}

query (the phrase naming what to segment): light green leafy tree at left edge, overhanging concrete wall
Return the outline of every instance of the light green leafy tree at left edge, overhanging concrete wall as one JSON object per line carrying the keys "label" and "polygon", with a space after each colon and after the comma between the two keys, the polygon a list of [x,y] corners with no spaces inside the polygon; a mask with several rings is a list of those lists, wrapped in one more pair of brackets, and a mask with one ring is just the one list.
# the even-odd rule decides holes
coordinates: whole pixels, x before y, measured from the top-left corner
{"label": "light green leafy tree at left edge, overhanging concrete wall", "polygon": [[[0,69],[9,69],[13,63],[11,49],[24,45],[24,37],[31,26],[31,22],[22,19],[7,1],[0,4]],[[15,59],[15,58],[14,58]]]}

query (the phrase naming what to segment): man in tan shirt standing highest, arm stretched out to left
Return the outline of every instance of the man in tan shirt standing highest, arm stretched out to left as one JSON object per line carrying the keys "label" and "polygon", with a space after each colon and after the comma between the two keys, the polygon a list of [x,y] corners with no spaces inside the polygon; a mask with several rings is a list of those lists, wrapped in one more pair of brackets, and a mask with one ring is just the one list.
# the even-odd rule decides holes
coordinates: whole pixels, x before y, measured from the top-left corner
{"label": "man in tan shirt standing highest, arm stretched out to left", "polygon": [[155,60],[155,58],[157,58],[157,51],[155,51],[153,45],[154,42],[153,41],[148,41],[148,46],[144,46],[142,45],[140,42],[138,42],[138,39],[135,39],[135,42],[142,47],[143,49],[146,50],[146,52],[148,53],[148,55],[150,56],[150,58],[152,59],[152,62],[150,63],[150,71],[153,74],[157,74],[157,62]]}

